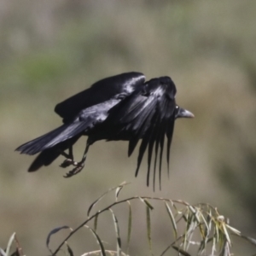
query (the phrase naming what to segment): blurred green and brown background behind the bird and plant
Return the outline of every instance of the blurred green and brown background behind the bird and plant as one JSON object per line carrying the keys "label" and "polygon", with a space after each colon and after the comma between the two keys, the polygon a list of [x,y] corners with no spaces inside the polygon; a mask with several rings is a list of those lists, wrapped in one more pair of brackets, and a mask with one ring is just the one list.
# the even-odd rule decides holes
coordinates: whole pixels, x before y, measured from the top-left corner
{"label": "blurred green and brown background behind the bird and plant", "polygon": [[[209,202],[243,234],[256,237],[255,15],[256,3],[248,0],[2,0],[0,247],[15,231],[26,255],[47,255],[50,230],[63,224],[75,228],[92,201],[123,181],[131,182],[121,192],[124,198]],[[54,113],[57,102],[128,71],[148,79],[171,76],[177,103],[195,113],[195,119],[177,120],[171,175],[168,179],[164,170],[161,191],[146,187],[146,161],[134,177],[137,153],[128,159],[124,142],[94,144],[84,171],[70,179],[62,177],[61,158],[26,172],[34,157],[14,150],[61,124]],[[76,146],[76,159],[84,144],[85,138]],[[145,210],[133,207],[130,253],[148,255]],[[162,208],[152,218],[156,255],[172,241]],[[119,213],[123,235],[126,210]],[[102,239],[111,247],[113,224],[107,223],[100,223]],[[97,248],[88,233],[82,230],[72,239],[76,255]],[[57,234],[52,246],[66,235]],[[255,251],[234,244],[236,255]]]}

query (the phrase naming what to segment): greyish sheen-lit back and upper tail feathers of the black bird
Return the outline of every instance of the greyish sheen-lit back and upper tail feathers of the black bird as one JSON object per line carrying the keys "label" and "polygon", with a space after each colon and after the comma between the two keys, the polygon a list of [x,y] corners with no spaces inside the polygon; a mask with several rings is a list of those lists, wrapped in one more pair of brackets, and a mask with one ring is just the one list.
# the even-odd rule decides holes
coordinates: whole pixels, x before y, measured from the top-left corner
{"label": "greyish sheen-lit back and upper tail feathers of the black bird", "polygon": [[101,124],[108,117],[108,110],[120,102],[120,99],[110,99],[82,110],[72,122],[61,125],[28,143],[16,148],[22,154],[37,154],[46,148],[52,148],[58,143],[67,141],[79,134],[86,134],[95,125]]}

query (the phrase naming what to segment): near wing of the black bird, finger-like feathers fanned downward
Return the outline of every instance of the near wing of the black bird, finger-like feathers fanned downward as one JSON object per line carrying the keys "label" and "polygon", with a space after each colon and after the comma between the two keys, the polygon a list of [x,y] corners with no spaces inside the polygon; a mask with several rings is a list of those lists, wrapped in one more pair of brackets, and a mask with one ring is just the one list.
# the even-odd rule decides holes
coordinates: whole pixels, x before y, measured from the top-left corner
{"label": "near wing of the black bird, finger-like feathers fanned downward", "polygon": [[[128,155],[130,156],[142,139],[137,158],[136,175],[148,148],[148,178],[151,159],[154,151],[154,181],[157,158],[159,156],[159,180],[165,136],[167,137],[167,163],[172,143],[172,132],[175,120],[176,88],[170,78],[152,79],[143,90],[135,91],[114,107],[113,119],[122,132],[131,133]],[[159,152],[160,149],[160,152]],[[169,167],[168,167],[169,170]],[[153,183],[154,183],[153,181]]]}

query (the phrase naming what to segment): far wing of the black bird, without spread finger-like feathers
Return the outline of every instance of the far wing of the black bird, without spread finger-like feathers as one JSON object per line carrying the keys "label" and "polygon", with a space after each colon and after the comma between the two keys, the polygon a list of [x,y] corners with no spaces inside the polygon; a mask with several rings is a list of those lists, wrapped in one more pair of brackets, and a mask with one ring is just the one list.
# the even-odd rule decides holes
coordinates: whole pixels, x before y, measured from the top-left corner
{"label": "far wing of the black bird, without spread finger-like feathers", "polygon": [[130,72],[102,79],[87,90],[67,98],[67,100],[55,106],[55,113],[58,113],[63,122],[67,123],[73,119],[84,108],[106,102],[113,96],[119,94],[130,95],[136,88],[145,81],[143,73]]}

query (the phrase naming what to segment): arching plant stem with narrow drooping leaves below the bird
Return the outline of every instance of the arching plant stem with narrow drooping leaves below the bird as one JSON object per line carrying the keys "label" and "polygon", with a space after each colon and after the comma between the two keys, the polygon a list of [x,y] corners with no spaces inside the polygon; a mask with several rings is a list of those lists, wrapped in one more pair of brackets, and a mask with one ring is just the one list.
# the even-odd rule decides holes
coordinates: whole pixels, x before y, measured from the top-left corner
{"label": "arching plant stem with narrow drooping leaves below the bird", "polygon": [[[49,241],[51,236],[63,229],[70,229],[69,235],[61,242],[61,244],[53,251],[49,248],[51,255],[56,255],[61,248],[66,245],[67,253],[73,256],[73,250],[68,245],[67,241],[78,230],[85,228],[90,230],[91,234],[95,236],[95,239],[99,245],[99,250],[84,253],[85,255],[128,255],[129,245],[131,241],[131,224],[132,224],[132,206],[131,201],[140,201],[143,207],[146,208],[146,223],[147,223],[147,238],[148,238],[148,251],[153,255],[152,250],[152,229],[151,229],[151,212],[157,211],[158,208],[154,208],[152,203],[154,201],[160,201],[166,207],[166,214],[172,224],[172,230],[174,234],[174,240],[166,246],[166,249],[160,253],[160,256],[166,255],[166,252],[170,249],[177,251],[178,255],[189,256],[190,247],[193,245],[193,249],[197,250],[197,255],[234,255],[231,253],[232,239],[231,236],[238,236],[244,238],[247,241],[253,243],[256,246],[256,241],[250,237],[242,236],[239,230],[231,227],[229,219],[224,218],[219,214],[218,209],[212,207],[209,204],[199,203],[196,205],[190,205],[186,201],[171,200],[160,197],[148,197],[148,196],[132,196],[125,200],[119,200],[119,192],[127,183],[122,183],[118,187],[108,189],[106,193],[101,195],[96,201],[94,201],[87,211],[87,218],[82,224],[80,224],[74,230],[67,225],[56,228],[49,232],[47,237],[47,247],[49,248]],[[101,201],[105,195],[111,191],[115,191],[115,201],[108,207],[102,208],[102,210],[91,213],[96,204]],[[127,248],[122,247],[122,238],[119,232],[119,220],[114,213],[114,208],[118,205],[128,205],[128,226],[127,226]],[[116,237],[116,249],[106,250],[104,247],[104,241],[102,241],[100,235],[97,232],[98,219],[102,216],[103,212],[111,212],[113,216],[113,225]],[[91,228],[89,224],[92,224]],[[172,234],[170,234],[172,236]]]}

